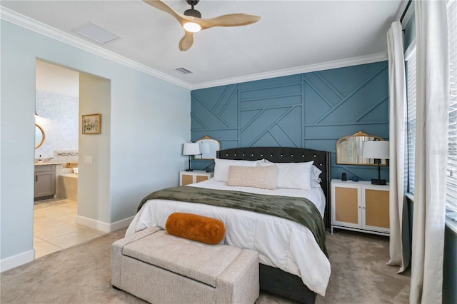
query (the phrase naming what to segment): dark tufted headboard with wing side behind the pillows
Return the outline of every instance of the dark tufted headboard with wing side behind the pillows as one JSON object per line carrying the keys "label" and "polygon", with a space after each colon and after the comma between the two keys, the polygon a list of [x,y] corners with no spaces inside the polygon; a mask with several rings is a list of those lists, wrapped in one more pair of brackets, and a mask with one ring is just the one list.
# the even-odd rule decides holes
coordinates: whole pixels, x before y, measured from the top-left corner
{"label": "dark tufted headboard with wing side behind the pillows", "polygon": [[314,166],[322,171],[320,176],[321,187],[326,196],[323,221],[326,223],[326,228],[330,228],[330,152],[306,148],[248,147],[217,151],[217,158],[246,161],[256,161],[265,158],[273,163],[303,163],[314,161]]}

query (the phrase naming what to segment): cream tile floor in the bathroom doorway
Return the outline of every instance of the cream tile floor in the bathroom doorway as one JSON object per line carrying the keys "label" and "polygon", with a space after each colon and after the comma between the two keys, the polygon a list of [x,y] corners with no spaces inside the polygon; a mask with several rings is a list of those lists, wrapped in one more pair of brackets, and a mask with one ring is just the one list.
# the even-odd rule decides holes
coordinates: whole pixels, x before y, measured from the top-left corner
{"label": "cream tile floor in the bathroom doorway", "polygon": [[36,202],[34,206],[35,258],[91,240],[104,232],[76,224],[77,201]]}

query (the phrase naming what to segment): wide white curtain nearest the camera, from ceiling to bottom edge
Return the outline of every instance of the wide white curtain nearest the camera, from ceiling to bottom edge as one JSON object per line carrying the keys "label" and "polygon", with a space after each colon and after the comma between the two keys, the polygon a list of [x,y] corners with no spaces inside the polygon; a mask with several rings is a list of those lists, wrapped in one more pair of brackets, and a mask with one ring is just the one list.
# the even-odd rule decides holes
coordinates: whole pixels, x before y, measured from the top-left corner
{"label": "wide white curtain nearest the camera, from ceiling to bottom edge", "polygon": [[410,303],[441,303],[449,101],[446,1],[414,1],[416,183]]}

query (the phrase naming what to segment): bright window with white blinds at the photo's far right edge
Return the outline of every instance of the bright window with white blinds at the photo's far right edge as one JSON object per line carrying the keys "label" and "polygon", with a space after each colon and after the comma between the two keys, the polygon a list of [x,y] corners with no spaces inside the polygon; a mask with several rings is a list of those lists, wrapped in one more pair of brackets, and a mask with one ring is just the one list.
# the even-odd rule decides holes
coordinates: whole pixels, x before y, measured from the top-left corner
{"label": "bright window with white blinds at the photo's far right edge", "polygon": [[449,126],[446,166],[446,215],[457,221],[457,1],[448,0]]}

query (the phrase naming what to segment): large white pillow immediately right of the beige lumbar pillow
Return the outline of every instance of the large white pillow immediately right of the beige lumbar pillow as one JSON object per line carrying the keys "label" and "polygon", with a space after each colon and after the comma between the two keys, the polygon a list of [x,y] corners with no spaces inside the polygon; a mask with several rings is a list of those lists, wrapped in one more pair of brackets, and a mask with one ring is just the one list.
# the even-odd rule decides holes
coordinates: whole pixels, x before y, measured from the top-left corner
{"label": "large white pillow immediately right of the beige lumbar pillow", "polygon": [[276,163],[278,166],[278,188],[311,190],[311,167],[307,163]]}

